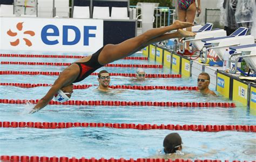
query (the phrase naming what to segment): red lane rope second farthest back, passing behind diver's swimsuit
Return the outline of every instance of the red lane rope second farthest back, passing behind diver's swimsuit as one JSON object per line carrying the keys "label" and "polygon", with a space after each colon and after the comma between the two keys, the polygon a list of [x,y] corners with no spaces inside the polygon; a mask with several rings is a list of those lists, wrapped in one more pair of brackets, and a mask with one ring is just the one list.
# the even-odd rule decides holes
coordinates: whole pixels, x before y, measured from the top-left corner
{"label": "red lane rope second farthest back, passing behind diver's swimsuit", "polygon": [[[71,63],[45,63],[45,62],[1,62],[2,65],[50,65],[50,66],[69,66]],[[163,68],[163,65],[139,65],[139,64],[106,64],[105,67],[122,68]]]}

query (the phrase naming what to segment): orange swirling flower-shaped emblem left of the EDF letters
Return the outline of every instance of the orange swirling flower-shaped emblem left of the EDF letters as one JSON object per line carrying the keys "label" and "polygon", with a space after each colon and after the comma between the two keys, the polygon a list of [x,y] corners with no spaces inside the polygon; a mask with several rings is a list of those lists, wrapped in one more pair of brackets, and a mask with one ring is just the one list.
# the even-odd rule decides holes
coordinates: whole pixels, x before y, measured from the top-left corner
{"label": "orange swirling flower-shaped emblem left of the EDF letters", "polygon": [[[16,25],[16,27],[17,27],[17,29],[18,29],[19,31],[22,31],[23,23],[24,23],[24,22],[18,23],[18,24]],[[35,36],[35,32],[30,31],[30,30],[24,31],[23,33],[24,33],[25,35]],[[17,36],[17,32],[12,32],[11,29],[9,29],[9,30],[7,31],[7,34],[8,34],[9,36],[11,36],[11,37]],[[28,45],[28,46],[31,46],[31,45],[32,45],[32,43],[31,43],[31,41],[30,41],[29,39],[23,38],[23,40],[25,41],[26,45]],[[10,42],[10,44],[11,44],[12,46],[17,46],[17,45],[19,44],[19,39],[16,39],[14,42]]]}

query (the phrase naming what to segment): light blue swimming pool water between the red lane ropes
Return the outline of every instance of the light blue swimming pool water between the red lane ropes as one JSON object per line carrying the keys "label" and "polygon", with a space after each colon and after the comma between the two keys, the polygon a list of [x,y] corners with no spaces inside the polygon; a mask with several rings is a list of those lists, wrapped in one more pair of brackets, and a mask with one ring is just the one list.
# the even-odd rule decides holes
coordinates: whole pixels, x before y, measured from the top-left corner
{"label": "light blue swimming pool water between the red lane ropes", "polygon": [[[4,51],[5,53],[12,51]],[[26,51],[21,51],[24,53]],[[3,53],[3,52],[2,52]],[[46,52],[52,53],[52,52]],[[75,55],[65,53],[65,55]],[[76,54],[77,55],[77,54]],[[140,56],[141,54],[134,54]],[[63,62],[68,58],[1,57],[1,61]],[[118,60],[114,64],[156,64],[148,60]],[[64,66],[1,65],[1,71],[62,71]],[[136,68],[98,69],[117,73],[134,73]],[[172,73],[170,69],[146,68],[146,73]],[[48,83],[57,76],[1,75],[1,83]],[[98,84],[97,76],[89,76],[78,84]],[[129,77],[111,77],[111,85],[196,86],[192,78],[148,78],[137,82]],[[102,93],[97,86],[74,90],[72,100],[118,100],[157,102],[225,102],[223,97],[202,96],[196,91],[113,90]],[[0,86],[1,99],[39,99],[49,87],[24,89]],[[214,89],[214,87],[211,87]],[[86,122],[179,125],[255,125],[256,117],[246,107],[161,107],[161,106],[88,106],[48,105],[35,114],[28,114],[28,105],[0,104],[0,119],[15,122]],[[255,133],[220,131],[174,131],[111,129],[106,127],[72,127],[69,129],[5,128],[0,129],[0,155],[66,156],[86,158],[149,158],[158,156],[164,137],[178,132],[183,139],[183,152],[190,159],[255,160]],[[179,158],[186,158],[180,156]]]}

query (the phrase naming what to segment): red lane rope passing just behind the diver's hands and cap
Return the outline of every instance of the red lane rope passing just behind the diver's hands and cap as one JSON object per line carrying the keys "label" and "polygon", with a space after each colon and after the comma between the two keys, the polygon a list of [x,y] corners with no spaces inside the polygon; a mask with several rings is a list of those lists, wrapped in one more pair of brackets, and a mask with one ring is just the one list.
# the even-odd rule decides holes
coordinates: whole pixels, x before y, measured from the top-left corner
{"label": "red lane rope passing just behind the diver's hands and cap", "polygon": [[[0,104],[36,104],[38,99],[0,99]],[[69,100],[67,102],[57,102],[51,100],[49,105],[89,105],[89,106],[165,106],[165,107],[235,107],[234,103],[204,103],[204,102],[139,102],[139,101],[118,101],[118,100]]]}

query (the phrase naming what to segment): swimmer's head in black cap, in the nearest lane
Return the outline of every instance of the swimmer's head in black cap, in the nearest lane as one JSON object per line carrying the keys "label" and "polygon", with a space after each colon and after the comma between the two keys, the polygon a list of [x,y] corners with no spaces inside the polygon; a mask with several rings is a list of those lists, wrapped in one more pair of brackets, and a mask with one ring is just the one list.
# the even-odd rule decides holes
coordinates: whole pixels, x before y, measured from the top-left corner
{"label": "swimmer's head in black cap, in the nearest lane", "polygon": [[164,139],[164,152],[175,153],[177,150],[182,149],[181,137],[178,133],[170,133]]}

